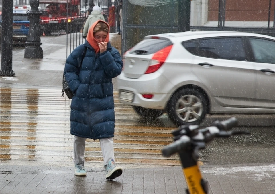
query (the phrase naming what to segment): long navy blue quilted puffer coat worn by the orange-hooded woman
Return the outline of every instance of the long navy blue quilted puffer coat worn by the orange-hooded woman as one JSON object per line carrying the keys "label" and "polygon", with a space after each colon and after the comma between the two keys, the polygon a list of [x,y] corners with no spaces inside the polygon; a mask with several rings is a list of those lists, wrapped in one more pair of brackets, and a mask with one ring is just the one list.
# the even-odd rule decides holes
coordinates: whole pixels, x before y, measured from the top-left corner
{"label": "long navy blue quilted puffer coat worn by the orange-hooded woman", "polygon": [[[82,58],[85,47],[86,54]],[[110,42],[103,53],[96,54],[86,41],[69,55],[64,75],[74,93],[70,115],[72,135],[91,139],[114,137],[112,78],[121,73],[122,66],[121,56]]]}

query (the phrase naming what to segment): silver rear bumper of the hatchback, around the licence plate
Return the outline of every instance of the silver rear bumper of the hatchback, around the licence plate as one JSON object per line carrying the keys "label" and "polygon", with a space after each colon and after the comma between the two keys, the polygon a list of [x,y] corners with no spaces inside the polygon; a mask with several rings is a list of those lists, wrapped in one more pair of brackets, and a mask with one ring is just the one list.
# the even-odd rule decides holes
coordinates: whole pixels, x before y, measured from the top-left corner
{"label": "silver rear bumper of the hatchback, around the licence plate", "polygon": [[[151,109],[165,109],[171,95],[170,91],[173,88],[173,85],[158,72],[142,75],[137,79],[125,77],[122,72],[117,77],[117,85],[121,103]],[[133,101],[122,101],[120,99],[121,91],[133,93]],[[142,94],[153,94],[154,96],[152,99],[146,99]]]}

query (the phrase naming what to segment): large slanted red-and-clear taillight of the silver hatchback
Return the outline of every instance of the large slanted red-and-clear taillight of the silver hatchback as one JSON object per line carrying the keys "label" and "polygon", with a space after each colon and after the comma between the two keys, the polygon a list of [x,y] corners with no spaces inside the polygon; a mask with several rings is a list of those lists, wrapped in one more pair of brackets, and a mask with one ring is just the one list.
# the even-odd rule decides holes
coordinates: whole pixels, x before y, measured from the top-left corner
{"label": "large slanted red-and-clear taillight of the silver hatchback", "polygon": [[149,62],[149,67],[144,74],[154,73],[157,71],[165,62],[166,58],[168,57],[173,45],[169,45],[158,52],[156,52],[151,61]]}

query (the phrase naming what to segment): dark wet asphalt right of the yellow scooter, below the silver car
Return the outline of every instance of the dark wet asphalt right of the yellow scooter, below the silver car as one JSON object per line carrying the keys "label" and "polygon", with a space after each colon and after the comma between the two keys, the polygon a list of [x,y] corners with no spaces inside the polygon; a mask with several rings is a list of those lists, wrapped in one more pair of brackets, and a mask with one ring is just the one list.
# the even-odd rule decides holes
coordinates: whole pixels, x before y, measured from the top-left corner
{"label": "dark wet asphalt right of the yellow scooter, below the silver car", "polygon": [[201,151],[207,164],[272,163],[275,161],[274,127],[241,127],[234,130],[250,131],[229,139],[214,139]]}

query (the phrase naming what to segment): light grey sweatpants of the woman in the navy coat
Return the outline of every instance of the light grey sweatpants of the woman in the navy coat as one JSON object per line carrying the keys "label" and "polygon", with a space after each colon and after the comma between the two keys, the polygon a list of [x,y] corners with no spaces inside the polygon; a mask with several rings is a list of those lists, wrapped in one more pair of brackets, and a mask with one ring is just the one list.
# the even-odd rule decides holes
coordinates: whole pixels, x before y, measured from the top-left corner
{"label": "light grey sweatpants of the woman in the navy coat", "polygon": [[[74,136],[74,163],[84,163],[85,141],[87,138]],[[104,165],[111,159],[115,161],[113,137],[99,139]]]}

